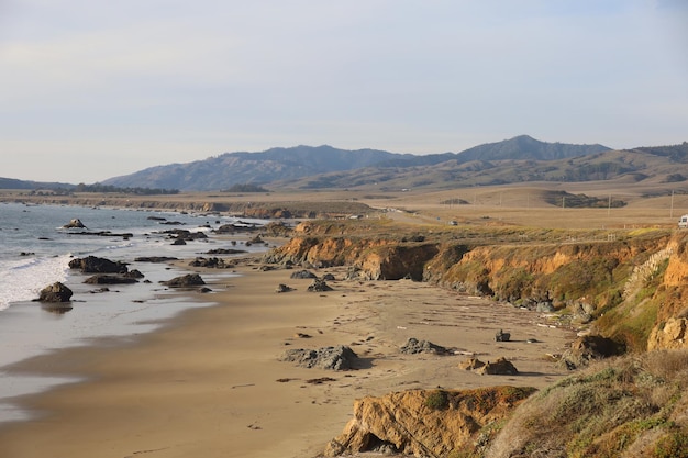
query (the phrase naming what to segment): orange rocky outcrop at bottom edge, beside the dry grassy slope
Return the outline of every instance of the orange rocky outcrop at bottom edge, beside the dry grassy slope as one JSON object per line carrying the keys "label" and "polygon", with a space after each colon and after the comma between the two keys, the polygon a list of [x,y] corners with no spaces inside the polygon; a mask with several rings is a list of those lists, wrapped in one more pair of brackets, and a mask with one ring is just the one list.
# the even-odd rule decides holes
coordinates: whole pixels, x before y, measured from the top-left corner
{"label": "orange rocky outcrop at bottom edge, beside the dry grassy slope", "polygon": [[[354,403],[354,417],[331,440],[328,457],[373,450],[444,457],[487,443],[490,426],[507,418],[533,388],[410,390]],[[469,455],[466,455],[469,456]]]}

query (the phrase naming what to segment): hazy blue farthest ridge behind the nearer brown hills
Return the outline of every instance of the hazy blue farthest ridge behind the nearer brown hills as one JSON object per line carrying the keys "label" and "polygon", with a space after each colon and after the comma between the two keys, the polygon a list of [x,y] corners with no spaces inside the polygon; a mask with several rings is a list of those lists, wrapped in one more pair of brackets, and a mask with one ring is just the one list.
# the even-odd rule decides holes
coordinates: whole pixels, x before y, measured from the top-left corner
{"label": "hazy blue farthest ridge behind the nearer brown hills", "polygon": [[[346,150],[332,146],[296,146],[271,148],[262,153],[225,153],[204,160],[157,166],[132,175],[110,178],[103,185],[118,187],[149,187],[209,191],[229,189],[235,185],[278,183],[302,188],[355,187],[376,181],[388,181],[396,169],[413,171],[417,167],[435,167],[453,161],[531,159],[554,160],[609,150],[602,145],[569,145],[539,142],[522,135],[503,142],[480,145],[463,153],[434,155],[397,154],[377,149]],[[370,177],[363,182],[358,171],[386,170],[385,177]],[[309,177],[312,177],[310,179]]]}

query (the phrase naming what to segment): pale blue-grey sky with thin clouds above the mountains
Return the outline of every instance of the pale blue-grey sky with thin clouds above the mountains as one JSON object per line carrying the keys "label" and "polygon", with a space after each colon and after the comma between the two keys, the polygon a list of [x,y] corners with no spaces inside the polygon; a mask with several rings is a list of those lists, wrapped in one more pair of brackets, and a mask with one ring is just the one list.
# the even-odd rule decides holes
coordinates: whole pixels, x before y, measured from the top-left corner
{"label": "pale blue-grey sky with thin clouds above the mountains", "polygon": [[0,0],[0,177],[688,141],[688,0]]}

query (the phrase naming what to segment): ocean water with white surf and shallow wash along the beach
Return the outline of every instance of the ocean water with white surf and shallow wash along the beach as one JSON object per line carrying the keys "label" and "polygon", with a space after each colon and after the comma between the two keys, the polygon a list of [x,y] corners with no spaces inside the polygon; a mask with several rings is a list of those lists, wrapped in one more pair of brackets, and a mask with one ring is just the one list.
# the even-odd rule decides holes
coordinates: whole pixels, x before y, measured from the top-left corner
{"label": "ocean water with white surf and shallow wash along the beach", "polygon": [[[65,228],[73,219],[86,227]],[[101,337],[152,332],[185,310],[212,304],[212,293],[207,302],[199,302],[159,284],[186,270],[134,260],[211,257],[206,253],[214,248],[266,250],[262,244],[245,244],[246,234],[235,239],[213,237],[212,228],[243,222],[266,223],[177,212],[0,203],[0,422],[32,417],[13,398],[78,381],[24,373],[12,368],[15,362],[60,348],[93,345]],[[203,232],[208,237],[173,245],[166,232],[176,228]],[[90,273],[68,267],[71,259],[87,256],[127,262],[130,270],[137,269],[145,278],[134,284],[104,286],[108,290],[102,291],[103,286],[84,283]],[[208,282],[231,276],[231,270],[218,270],[202,277]],[[56,281],[74,292],[67,306],[34,301]]]}

